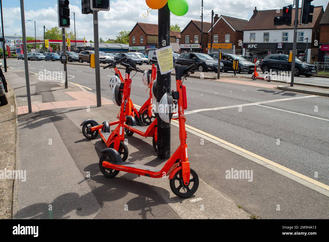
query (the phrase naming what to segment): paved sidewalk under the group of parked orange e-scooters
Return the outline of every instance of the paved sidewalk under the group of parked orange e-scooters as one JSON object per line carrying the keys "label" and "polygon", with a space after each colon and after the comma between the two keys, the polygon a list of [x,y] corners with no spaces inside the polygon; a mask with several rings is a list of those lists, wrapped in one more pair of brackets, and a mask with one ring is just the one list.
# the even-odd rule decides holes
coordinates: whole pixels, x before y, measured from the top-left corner
{"label": "paved sidewalk under the group of parked orange e-scooters", "polygon": [[[24,72],[9,72],[18,106],[25,106]],[[31,75],[34,104],[74,101],[90,92],[69,84],[40,82]],[[270,84],[266,84],[270,85]],[[25,94],[24,94],[25,92]],[[329,199],[310,188],[224,148],[188,129],[191,168],[200,178],[198,191],[189,199],[174,196],[167,178],[153,179],[120,172],[107,179],[99,172],[99,137],[84,138],[80,124],[88,118],[114,121],[119,107],[81,106],[40,110],[18,117],[16,169],[27,180],[15,181],[15,218],[328,218]],[[86,104],[86,103],[81,103]],[[44,104],[43,104],[44,105]],[[55,107],[55,106],[54,106]],[[113,130],[114,127],[111,127]],[[171,153],[178,144],[178,128],[171,128]],[[151,138],[126,137],[130,162],[162,167]],[[253,182],[227,179],[227,170],[253,171]],[[202,198],[198,202],[191,199]],[[281,210],[277,210],[277,205]],[[50,206],[51,205],[51,206]],[[49,211],[49,208],[52,208]],[[128,208],[128,209],[125,209]]]}

